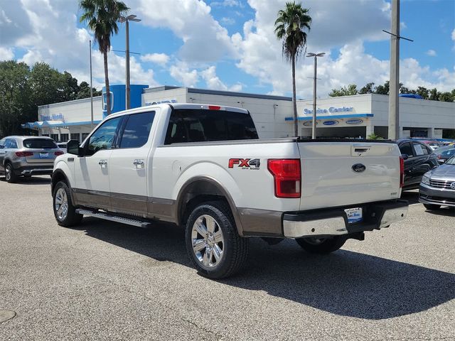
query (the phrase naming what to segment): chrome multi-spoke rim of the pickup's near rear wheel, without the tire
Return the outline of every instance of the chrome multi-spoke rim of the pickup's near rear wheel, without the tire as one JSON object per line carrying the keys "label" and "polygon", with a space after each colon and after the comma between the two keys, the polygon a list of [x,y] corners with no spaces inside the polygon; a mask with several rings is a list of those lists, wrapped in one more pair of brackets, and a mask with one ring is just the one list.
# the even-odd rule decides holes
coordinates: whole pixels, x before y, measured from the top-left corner
{"label": "chrome multi-spoke rim of the pickup's near rear wheel, without the tire", "polygon": [[200,266],[213,269],[223,259],[225,247],[220,225],[210,215],[201,215],[196,219],[191,230],[193,252]]}

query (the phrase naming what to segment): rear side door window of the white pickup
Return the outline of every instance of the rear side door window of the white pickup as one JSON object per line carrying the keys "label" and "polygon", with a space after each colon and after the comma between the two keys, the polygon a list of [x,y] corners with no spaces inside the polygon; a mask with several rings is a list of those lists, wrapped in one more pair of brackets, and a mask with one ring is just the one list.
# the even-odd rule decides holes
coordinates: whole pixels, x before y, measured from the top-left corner
{"label": "rear side door window of the white pickup", "polygon": [[139,148],[144,146],[149,141],[154,117],[155,112],[129,115],[120,140],[120,148]]}

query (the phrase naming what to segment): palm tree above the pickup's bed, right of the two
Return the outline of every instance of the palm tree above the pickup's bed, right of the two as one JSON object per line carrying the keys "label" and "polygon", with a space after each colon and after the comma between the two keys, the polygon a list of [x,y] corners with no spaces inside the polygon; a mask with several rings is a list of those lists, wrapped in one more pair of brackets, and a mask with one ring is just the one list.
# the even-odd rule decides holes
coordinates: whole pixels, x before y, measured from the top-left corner
{"label": "palm tree above the pickup's bed, right of the two", "polygon": [[283,40],[283,55],[292,64],[292,104],[294,107],[294,134],[299,136],[296,104],[296,59],[306,45],[306,28],[310,31],[309,9],[302,8],[295,1],[287,2],[286,8],[278,11],[275,21],[275,34]]}

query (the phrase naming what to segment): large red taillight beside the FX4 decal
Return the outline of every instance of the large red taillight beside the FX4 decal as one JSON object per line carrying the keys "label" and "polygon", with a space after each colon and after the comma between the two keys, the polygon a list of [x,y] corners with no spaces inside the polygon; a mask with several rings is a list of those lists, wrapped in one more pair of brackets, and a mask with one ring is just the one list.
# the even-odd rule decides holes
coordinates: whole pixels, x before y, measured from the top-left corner
{"label": "large red taillight beside the FX4 decal", "polygon": [[272,159],[267,168],[275,182],[276,197],[300,197],[300,160],[298,158]]}

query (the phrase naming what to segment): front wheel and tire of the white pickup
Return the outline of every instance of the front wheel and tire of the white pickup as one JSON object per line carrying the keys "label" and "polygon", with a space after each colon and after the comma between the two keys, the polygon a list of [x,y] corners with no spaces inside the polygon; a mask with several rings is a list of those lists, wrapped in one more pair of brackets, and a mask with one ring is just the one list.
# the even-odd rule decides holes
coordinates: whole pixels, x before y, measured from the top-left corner
{"label": "front wheel and tire of the white pickup", "polygon": [[71,201],[70,188],[64,181],[59,181],[53,193],[53,211],[55,220],[60,226],[72,227],[80,223],[82,215],[76,213]]}

